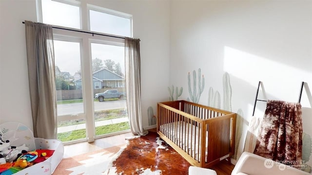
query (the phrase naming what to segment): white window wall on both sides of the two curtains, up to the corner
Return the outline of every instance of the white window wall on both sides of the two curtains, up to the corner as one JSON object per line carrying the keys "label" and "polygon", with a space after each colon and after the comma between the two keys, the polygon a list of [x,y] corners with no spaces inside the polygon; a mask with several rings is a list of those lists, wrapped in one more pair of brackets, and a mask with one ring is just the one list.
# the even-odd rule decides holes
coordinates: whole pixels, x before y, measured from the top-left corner
{"label": "white window wall on both sides of the two curtains, up to the corner", "polygon": [[[147,108],[167,99],[169,84],[169,1],[88,0],[87,3],[133,15],[140,38],[144,126]],[[0,123],[18,121],[32,128],[24,20],[37,21],[35,0],[0,0]]]}

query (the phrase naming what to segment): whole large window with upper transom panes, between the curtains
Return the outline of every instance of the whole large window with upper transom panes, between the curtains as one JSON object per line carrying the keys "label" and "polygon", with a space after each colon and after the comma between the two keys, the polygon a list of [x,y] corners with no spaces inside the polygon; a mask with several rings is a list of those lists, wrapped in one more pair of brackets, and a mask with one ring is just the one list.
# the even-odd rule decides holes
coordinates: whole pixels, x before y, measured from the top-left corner
{"label": "whole large window with upper transom panes, between the curtains", "polygon": [[[129,14],[83,0],[39,2],[40,22],[105,35],[132,36]],[[129,132],[124,99],[124,39],[56,28],[53,33],[58,139],[67,144]],[[114,93],[106,96],[110,89]]]}

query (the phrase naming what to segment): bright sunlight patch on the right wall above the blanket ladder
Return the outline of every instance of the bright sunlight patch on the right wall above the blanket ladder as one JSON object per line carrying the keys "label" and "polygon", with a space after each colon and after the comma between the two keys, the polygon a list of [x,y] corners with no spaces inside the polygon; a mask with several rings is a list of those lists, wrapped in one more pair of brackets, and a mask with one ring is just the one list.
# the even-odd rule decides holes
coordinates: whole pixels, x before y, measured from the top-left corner
{"label": "bright sunlight patch on the right wall above the blanket ladder", "polygon": [[[291,102],[297,101],[301,82],[311,79],[311,72],[228,46],[224,47],[223,70],[255,88],[257,82],[262,81],[268,98]],[[302,100],[307,99],[304,97]]]}

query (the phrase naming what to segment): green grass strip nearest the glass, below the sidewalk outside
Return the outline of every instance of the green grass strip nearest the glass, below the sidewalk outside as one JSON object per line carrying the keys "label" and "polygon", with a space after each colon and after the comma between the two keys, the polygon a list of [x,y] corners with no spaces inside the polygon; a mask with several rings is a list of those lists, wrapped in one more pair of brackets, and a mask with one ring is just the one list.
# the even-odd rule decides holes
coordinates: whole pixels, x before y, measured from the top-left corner
{"label": "green grass strip nearest the glass, below the sidewalk outside", "polygon": [[[124,131],[130,129],[128,122],[123,123],[116,123],[116,124],[109,124],[105,126],[98,126],[96,127],[96,135],[104,135],[104,134],[110,134],[118,131]],[[86,130],[85,129],[79,129],[71,132],[65,132],[65,133],[59,133],[58,139],[62,142],[66,141],[72,141],[72,140],[78,140],[86,138]]]}

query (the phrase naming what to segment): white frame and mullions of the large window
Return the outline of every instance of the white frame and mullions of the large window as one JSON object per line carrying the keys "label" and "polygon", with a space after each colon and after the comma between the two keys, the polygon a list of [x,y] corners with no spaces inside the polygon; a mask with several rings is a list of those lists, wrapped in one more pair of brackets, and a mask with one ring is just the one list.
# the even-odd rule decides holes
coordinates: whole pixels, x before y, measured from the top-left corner
{"label": "white frame and mullions of the large window", "polygon": [[[95,5],[87,4],[86,1],[79,1],[77,0],[57,0],[58,2],[66,3],[69,5],[76,5],[80,7],[80,25],[82,31],[90,32],[90,19],[89,19],[89,9],[96,10],[102,9],[105,10],[103,13],[108,13],[108,11],[114,12],[111,15],[116,15],[119,17],[131,18],[130,21],[130,37],[133,36],[132,32],[132,15],[125,14],[125,13],[116,13],[117,11],[109,10],[102,7],[97,7]],[[41,8],[41,0],[36,0],[37,2],[37,19],[39,22],[42,22],[42,8]],[[124,15],[124,16],[120,16]],[[69,27],[63,27],[64,29],[69,29]],[[81,80],[82,83],[77,83],[77,86],[81,84],[81,88],[83,91],[83,104],[84,104],[84,113],[82,114],[72,114],[62,116],[62,120],[78,120],[84,119],[86,121],[86,139],[82,140],[74,140],[63,143],[65,144],[72,144],[76,142],[81,142],[87,140],[88,142],[93,142],[95,138],[100,138],[99,136],[95,137],[95,121],[94,121],[94,89],[93,89],[93,76],[92,76],[92,55],[91,55],[91,41],[95,43],[102,43],[102,44],[109,44],[109,45],[116,45],[116,46],[124,46],[124,39],[123,36],[119,37],[111,37],[111,36],[104,36],[104,35],[92,35],[87,33],[69,31],[69,30],[62,30],[53,28],[53,34],[55,36],[54,39],[63,40],[63,41],[70,41],[67,40],[68,38],[72,39],[74,42],[80,42],[80,61],[81,61]],[[76,29],[77,30],[77,29]],[[98,33],[98,32],[97,32]],[[101,33],[98,33],[101,34]],[[107,34],[105,34],[107,35]],[[121,38],[120,38],[121,37]],[[59,116],[58,116],[59,117]]]}

